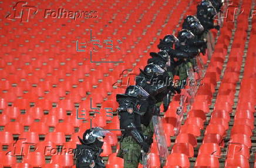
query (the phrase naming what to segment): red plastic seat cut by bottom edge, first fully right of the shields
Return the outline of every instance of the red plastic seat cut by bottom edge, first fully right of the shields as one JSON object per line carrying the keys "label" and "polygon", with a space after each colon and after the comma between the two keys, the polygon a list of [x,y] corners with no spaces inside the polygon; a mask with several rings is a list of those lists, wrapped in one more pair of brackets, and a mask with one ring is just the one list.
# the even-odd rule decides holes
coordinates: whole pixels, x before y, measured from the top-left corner
{"label": "red plastic seat cut by bottom edge, first fully right of the shields", "polygon": [[167,157],[166,166],[190,167],[187,155],[183,153],[172,153]]}

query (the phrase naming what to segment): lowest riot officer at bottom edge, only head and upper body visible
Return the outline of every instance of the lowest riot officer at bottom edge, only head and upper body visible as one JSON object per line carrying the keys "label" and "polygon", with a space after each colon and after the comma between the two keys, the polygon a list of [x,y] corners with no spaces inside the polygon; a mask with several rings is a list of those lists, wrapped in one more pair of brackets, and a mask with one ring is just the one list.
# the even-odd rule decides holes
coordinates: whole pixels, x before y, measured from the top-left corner
{"label": "lowest riot officer at bottom edge, only head and upper body visible", "polygon": [[105,167],[100,153],[103,152],[103,138],[109,131],[100,127],[87,129],[83,138],[79,138],[81,145],[76,145],[75,157],[77,168],[103,168]]}

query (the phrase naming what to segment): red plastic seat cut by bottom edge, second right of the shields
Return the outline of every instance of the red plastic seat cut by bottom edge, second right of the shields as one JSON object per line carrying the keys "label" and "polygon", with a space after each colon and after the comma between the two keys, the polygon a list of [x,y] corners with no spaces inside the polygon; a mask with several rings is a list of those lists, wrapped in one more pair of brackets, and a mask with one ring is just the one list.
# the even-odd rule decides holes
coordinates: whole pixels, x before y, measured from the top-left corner
{"label": "red plastic seat cut by bottom edge, second right of the shields", "polygon": [[198,155],[195,166],[209,166],[212,168],[220,167],[218,157],[214,155]]}

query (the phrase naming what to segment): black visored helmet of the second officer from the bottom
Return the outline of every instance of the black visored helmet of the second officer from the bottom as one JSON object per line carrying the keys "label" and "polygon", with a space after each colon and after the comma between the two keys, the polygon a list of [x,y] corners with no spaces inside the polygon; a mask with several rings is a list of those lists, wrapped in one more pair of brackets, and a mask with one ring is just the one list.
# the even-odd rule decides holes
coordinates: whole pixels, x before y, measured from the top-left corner
{"label": "black visored helmet of the second officer from the bottom", "polygon": [[126,88],[125,94],[130,97],[141,98],[142,100],[146,100],[146,98],[149,97],[149,93],[139,85],[129,85],[129,87]]}

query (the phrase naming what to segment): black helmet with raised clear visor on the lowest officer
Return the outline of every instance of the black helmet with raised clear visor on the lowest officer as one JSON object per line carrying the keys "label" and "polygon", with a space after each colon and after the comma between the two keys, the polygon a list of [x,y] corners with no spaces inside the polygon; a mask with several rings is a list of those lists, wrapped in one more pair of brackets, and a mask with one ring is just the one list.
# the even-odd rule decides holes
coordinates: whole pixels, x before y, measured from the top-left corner
{"label": "black helmet with raised clear visor on the lowest officer", "polygon": [[109,131],[106,131],[100,127],[95,127],[91,129],[87,129],[85,133],[83,133],[83,139],[78,136],[80,142],[84,145],[89,145],[94,143],[97,138],[104,138]]}

